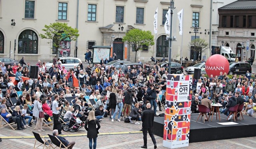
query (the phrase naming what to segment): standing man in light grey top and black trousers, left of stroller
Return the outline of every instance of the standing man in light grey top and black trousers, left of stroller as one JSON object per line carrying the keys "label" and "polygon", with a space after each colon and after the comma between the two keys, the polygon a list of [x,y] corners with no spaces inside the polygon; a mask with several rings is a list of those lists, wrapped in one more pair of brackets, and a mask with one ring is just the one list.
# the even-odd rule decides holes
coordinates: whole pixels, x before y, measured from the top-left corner
{"label": "standing man in light grey top and black trousers, left of stroller", "polygon": [[53,115],[53,129],[58,129],[59,135],[63,135],[61,133],[61,123],[59,110],[63,107],[63,104],[58,103],[59,95],[54,95],[54,101],[52,102],[52,115]]}

